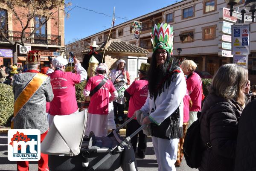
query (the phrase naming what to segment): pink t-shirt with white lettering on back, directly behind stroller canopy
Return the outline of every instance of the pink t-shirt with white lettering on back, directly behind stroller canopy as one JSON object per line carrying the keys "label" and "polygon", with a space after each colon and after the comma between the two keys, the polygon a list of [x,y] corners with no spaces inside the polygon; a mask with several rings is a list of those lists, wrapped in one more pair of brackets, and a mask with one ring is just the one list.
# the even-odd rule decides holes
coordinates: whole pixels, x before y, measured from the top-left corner
{"label": "pink t-shirt with white lettering on back, directly behind stroller canopy", "polygon": [[78,110],[76,102],[75,84],[80,82],[81,76],[72,72],[55,70],[48,74],[51,77],[53,100],[50,102],[51,115],[69,115]]}

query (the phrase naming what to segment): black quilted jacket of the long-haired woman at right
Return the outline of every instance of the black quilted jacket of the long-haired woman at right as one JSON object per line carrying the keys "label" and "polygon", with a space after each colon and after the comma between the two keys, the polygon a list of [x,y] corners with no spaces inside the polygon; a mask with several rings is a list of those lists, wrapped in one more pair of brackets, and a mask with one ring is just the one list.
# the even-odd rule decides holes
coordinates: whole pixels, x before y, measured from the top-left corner
{"label": "black quilted jacket of the long-haired woman at right", "polygon": [[241,111],[233,99],[207,96],[201,111],[201,145],[210,142],[212,148],[203,151],[199,171],[233,171]]}

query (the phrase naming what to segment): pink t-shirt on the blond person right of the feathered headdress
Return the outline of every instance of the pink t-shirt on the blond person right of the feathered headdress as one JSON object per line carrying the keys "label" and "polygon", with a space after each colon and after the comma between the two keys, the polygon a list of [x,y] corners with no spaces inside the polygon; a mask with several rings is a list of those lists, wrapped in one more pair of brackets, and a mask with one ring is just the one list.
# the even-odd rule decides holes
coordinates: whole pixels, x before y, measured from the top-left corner
{"label": "pink t-shirt on the blond person right of the feathered headdress", "polygon": [[189,111],[200,111],[202,103],[202,80],[200,76],[193,72],[192,75],[186,79],[186,84],[193,103]]}

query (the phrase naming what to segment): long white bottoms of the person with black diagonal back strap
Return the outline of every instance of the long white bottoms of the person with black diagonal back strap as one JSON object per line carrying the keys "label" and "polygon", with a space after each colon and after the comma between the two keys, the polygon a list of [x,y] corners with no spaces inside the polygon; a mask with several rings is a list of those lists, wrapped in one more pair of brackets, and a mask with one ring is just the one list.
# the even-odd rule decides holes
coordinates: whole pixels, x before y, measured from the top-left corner
{"label": "long white bottoms of the person with black diagonal back strap", "polygon": [[85,135],[89,136],[90,131],[93,131],[95,136],[108,135],[108,115],[97,115],[88,113],[85,127]]}

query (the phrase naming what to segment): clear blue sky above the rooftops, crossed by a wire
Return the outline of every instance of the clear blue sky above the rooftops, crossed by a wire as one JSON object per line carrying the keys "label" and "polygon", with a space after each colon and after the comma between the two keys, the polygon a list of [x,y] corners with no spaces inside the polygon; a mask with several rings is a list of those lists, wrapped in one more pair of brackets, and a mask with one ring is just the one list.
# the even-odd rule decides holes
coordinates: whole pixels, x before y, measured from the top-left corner
{"label": "clear blue sky above the rooftops, crossed by a wire", "polygon": [[[72,3],[72,6],[69,7],[70,9],[79,6],[99,13],[105,13],[109,16],[113,15],[113,7],[115,6],[115,16],[117,16],[115,25],[117,25],[127,21],[118,17],[131,20],[169,6],[175,3],[175,0],[66,0],[65,2]],[[70,17],[65,19],[65,43],[74,39],[85,38],[111,27],[112,17],[97,14],[86,9],[76,7],[69,12]]]}

